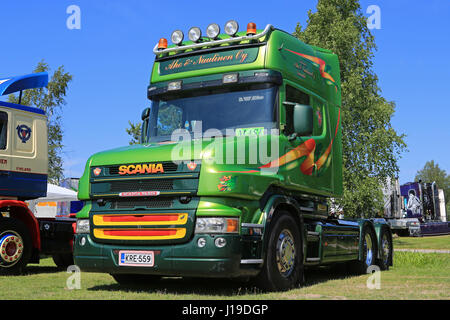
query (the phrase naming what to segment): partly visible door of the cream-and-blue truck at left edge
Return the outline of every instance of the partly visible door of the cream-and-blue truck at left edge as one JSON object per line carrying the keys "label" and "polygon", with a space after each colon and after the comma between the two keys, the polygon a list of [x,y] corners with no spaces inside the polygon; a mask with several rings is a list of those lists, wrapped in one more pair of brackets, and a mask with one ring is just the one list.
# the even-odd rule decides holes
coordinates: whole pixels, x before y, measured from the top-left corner
{"label": "partly visible door of the cream-and-blue truck at left edge", "polygon": [[[0,107],[0,196],[8,196],[11,174],[10,113]],[[5,197],[3,197],[5,198]]]}

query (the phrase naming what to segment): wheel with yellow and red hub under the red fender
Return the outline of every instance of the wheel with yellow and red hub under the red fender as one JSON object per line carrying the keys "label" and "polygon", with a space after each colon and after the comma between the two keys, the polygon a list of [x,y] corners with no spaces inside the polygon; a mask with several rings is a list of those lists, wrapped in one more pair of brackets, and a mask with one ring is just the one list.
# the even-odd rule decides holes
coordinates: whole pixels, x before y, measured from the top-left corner
{"label": "wheel with yellow and red hub under the red fender", "polygon": [[0,219],[0,274],[23,272],[31,257],[31,237],[22,221]]}

